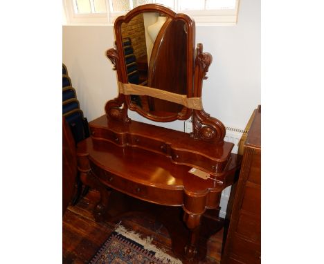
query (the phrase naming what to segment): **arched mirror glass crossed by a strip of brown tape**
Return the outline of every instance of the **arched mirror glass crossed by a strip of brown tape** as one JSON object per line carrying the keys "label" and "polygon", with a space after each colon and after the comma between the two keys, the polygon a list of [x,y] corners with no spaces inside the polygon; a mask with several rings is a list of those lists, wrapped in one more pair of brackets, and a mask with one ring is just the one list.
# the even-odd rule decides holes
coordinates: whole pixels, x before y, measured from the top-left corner
{"label": "arched mirror glass crossed by a strip of brown tape", "polygon": [[[187,95],[186,22],[159,12],[143,12],[122,23],[125,70],[130,84]],[[147,95],[130,95],[132,104],[156,116],[172,116],[181,104]]]}

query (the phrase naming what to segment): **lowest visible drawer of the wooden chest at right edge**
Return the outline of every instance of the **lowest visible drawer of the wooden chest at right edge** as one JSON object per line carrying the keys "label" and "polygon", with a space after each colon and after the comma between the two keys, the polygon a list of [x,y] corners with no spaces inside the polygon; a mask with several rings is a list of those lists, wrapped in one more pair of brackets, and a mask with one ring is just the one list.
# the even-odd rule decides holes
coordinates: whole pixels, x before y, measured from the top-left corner
{"label": "lowest visible drawer of the wooden chest at right edge", "polygon": [[259,264],[261,263],[261,246],[235,234],[230,257],[246,264]]}

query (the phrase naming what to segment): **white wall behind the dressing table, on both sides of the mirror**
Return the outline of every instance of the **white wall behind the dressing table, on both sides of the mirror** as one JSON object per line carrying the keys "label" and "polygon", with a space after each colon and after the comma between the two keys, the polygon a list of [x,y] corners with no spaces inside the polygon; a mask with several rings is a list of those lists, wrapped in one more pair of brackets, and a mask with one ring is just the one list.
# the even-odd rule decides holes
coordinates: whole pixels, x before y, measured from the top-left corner
{"label": "white wall behind the dressing table, on both sides of the mirror", "polygon": [[[196,43],[213,55],[204,81],[204,109],[225,126],[244,129],[260,104],[260,1],[242,0],[236,26],[196,26]],[[63,26],[63,63],[77,91],[84,116],[91,121],[105,113],[117,95],[116,72],[105,56],[113,47],[112,26]],[[134,120],[145,122],[136,113]],[[183,122],[164,126],[183,130]]]}

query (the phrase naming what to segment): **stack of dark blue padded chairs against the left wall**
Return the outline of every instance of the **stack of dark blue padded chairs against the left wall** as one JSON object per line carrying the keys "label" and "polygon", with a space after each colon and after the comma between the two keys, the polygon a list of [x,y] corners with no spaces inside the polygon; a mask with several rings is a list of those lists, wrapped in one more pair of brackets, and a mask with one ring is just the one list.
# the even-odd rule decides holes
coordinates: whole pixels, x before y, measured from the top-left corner
{"label": "stack of dark blue padded chairs against the left wall", "polygon": [[[79,101],[76,97],[75,88],[72,87],[71,79],[64,64],[62,74],[63,117],[65,118],[67,124],[69,124],[76,147],[76,144],[78,144],[78,142],[84,140],[85,138],[89,138],[88,120],[83,116]],[[72,205],[78,203],[80,198],[86,195],[89,191],[89,187],[84,187],[84,189],[82,188],[83,186],[80,180],[80,176],[77,176],[76,183],[77,191],[73,198]]]}

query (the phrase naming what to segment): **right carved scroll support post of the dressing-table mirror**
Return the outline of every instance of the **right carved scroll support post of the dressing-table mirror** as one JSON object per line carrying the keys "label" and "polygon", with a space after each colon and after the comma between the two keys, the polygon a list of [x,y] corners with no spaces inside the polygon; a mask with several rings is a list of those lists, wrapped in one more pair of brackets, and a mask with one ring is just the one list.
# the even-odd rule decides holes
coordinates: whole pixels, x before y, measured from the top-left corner
{"label": "right carved scroll support post of the dressing-table mirror", "polygon": [[[203,53],[202,44],[198,44],[195,59],[195,97],[201,97],[203,79],[207,79],[206,73],[213,61],[209,53]],[[192,115],[192,133],[190,136],[201,140],[224,140],[226,129],[222,122],[202,110],[194,110]]]}

